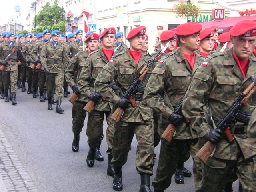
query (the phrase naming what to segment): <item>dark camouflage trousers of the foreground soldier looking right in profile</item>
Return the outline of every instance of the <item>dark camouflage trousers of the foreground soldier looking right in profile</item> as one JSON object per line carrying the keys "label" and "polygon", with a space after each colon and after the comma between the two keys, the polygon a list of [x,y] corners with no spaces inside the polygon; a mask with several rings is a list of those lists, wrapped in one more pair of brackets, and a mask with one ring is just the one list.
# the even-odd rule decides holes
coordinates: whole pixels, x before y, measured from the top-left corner
{"label": "dark camouflage trousers of the foreground soldier looking right in profile", "polygon": [[171,182],[172,175],[175,173],[176,165],[180,160],[180,154],[186,150],[189,150],[194,164],[193,173],[195,184],[197,185],[198,180],[201,180],[201,162],[195,156],[196,155],[196,140],[176,140],[173,139],[170,144],[161,142],[161,149],[159,154],[159,161],[156,170],[156,177],[154,178],[152,185],[156,190],[166,190]]}

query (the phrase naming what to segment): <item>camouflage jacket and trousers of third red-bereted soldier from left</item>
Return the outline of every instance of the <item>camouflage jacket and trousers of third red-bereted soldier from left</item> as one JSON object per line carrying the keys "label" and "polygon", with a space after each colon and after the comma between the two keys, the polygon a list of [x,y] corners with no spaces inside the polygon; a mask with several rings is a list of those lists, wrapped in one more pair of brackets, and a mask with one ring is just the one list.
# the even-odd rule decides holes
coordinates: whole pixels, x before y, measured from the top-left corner
{"label": "camouflage jacket and trousers of third red-bereted soldier from left", "polygon": [[[109,84],[114,81],[124,93],[130,84],[132,84],[135,75],[150,58],[150,55],[142,55],[137,65],[134,60],[132,60],[128,50],[116,54],[98,74],[95,81],[96,92],[106,98],[108,102],[112,102],[116,105],[119,96],[115,94],[115,91]],[[154,68],[154,66],[150,67],[149,73],[145,75],[140,86],[146,86],[148,78],[152,73],[152,68]],[[140,93],[136,94],[142,96]],[[137,106],[133,108],[129,105],[128,108],[124,110],[120,122],[114,123],[115,132],[113,138],[112,162],[115,167],[122,166],[126,163],[130,144],[135,134],[138,141],[136,152],[137,172],[139,174],[152,175],[154,154],[153,112],[146,106],[143,99],[135,102]],[[116,106],[112,110],[115,110],[115,108]]]}

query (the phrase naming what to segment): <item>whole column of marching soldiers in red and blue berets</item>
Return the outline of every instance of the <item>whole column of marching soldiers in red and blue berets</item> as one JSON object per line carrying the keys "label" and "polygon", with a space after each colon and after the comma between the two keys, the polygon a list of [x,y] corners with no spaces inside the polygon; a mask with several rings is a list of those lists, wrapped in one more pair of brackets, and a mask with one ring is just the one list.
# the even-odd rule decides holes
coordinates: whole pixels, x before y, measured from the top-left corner
{"label": "whole column of marching soldiers in red and blue berets", "polygon": [[[48,100],[48,110],[53,110],[56,102],[56,113],[63,113],[62,97],[68,97],[70,86],[76,95],[72,106],[72,151],[79,150],[80,132],[88,115],[86,164],[93,167],[95,160],[104,160],[100,145],[105,116],[107,174],[113,177],[116,191],[123,190],[122,166],[135,134],[140,192],[151,192],[154,148],[159,143],[159,162],[152,182],[155,192],[166,190],[173,174],[178,184],[192,176],[184,167],[190,155],[197,192],[231,192],[237,178],[240,191],[255,192],[256,94],[240,111],[249,118],[229,123],[232,142],[216,129],[216,124],[254,81],[256,22],[239,22],[220,36],[217,26],[203,29],[200,23],[181,24],[175,31],[162,32],[152,54],[148,53],[146,27],[129,32],[126,39],[130,48],[123,37],[113,27],[100,35],[88,32],[84,38],[82,30],[68,36],[57,30],[17,37],[13,32],[0,34],[1,99],[16,105],[17,88],[25,92],[27,82],[28,94],[39,96],[40,102]],[[156,62],[162,47],[163,56]],[[126,98],[124,94],[136,74],[153,58],[155,62],[140,79],[132,97]],[[93,105],[87,113],[84,108],[89,104]],[[177,106],[182,106],[181,112]],[[123,112],[116,121],[112,115],[119,108]],[[176,132],[171,141],[166,141],[160,136],[169,124],[176,127]],[[209,160],[202,162],[196,154],[207,141],[216,148]]]}

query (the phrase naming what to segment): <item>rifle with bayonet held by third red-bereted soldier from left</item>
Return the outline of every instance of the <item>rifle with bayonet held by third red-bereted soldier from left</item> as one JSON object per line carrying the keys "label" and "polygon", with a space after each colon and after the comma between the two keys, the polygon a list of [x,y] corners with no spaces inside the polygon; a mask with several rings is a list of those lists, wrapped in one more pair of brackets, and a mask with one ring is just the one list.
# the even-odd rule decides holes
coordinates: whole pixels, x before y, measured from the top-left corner
{"label": "rifle with bayonet held by third red-bereted soldier from left", "polygon": [[[168,48],[170,44],[170,41],[166,44],[166,46],[164,46],[164,48],[159,51],[156,56],[153,59],[150,59],[148,62],[145,63],[145,65],[143,66],[143,68],[140,70],[140,72],[138,72],[134,78],[134,81],[132,82],[132,84],[129,86],[128,90],[124,93],[124,98],[128,99],[132,105],[132,107],[136,106],[136,103],[134,102],[134,100],[132,99],[132,94],[134,94],[134,92],[136,92],[136,88],[139,86],[140,82],[142,82],[144,76],[146,75],[146,73],[148,72],[151,64],[153,62],[158,62],[158,60],[160,60],[160,58],[163,56],[164,51]],[[122,115],[124,113],[124,109],[118,107],[114,113],[112,114],[111,118],[114,119],[116,122],[119,122],[120,119],[122,118]]]}

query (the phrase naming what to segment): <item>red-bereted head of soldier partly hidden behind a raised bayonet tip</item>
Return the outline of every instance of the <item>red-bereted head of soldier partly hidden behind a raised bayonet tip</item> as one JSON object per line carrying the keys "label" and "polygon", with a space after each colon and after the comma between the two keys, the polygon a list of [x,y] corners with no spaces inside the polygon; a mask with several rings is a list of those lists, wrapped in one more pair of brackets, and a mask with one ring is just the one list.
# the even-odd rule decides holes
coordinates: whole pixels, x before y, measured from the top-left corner
{"label": "red-bereted head of soldier partly hidden behind a raised bayonet tip", "polygon": [[170,41],[168,48],[164,51],[164,53],[170,53],[175,50],[176,47],[176,35],[172,30],[163,31],[160,35],[161,45],[166,46],[166,44]]}

